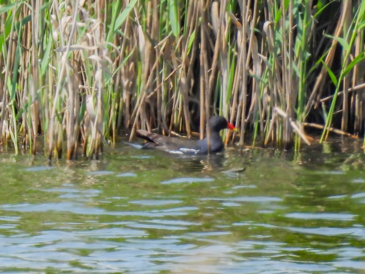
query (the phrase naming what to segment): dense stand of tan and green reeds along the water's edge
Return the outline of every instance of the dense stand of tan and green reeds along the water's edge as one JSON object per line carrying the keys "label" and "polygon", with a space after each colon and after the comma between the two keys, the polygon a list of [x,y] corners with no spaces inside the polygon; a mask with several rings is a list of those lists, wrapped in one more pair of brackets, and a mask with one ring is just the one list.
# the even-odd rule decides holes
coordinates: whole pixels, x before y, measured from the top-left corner
{"label": "dense stand of tan and green reeds along the water's edge", "polygon": [[239,146],[364,136],[364,28],[361,0],[0,0],[0,149],[97,158],[214,114]]}

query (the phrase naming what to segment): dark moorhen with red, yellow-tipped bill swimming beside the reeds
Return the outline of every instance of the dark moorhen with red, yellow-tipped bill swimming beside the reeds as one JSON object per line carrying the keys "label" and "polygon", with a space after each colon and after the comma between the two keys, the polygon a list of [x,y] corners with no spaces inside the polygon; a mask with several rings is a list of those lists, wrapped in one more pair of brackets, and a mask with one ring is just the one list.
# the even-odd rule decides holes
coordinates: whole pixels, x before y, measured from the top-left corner
{"label": "dark moorhen with red, yellow-tipped bill swimming beside the reeds", "polygon": [[[219,152],[224,149],[224,144],[219,132],[222,129],[231,129],[238,131],[231,125],[226,118],[222,116],[212,116],[209,119],[210,127],[210,152]],[[143,145],[143,149],[159,149],[169,153],[177,154],[207,154],[208,143],[207,137],[203,140],[188,140],[184,138],[162,136],[160,134],[150,133],[146,130],[137,130],[137,137],[147,141]]]}

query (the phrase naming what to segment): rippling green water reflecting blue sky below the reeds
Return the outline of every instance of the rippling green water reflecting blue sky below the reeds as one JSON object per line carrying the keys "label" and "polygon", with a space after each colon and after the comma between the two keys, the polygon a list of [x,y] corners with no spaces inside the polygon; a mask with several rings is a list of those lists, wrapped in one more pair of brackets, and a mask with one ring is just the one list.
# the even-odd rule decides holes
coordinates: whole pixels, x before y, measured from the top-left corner
{"label": "rippling green water reflecting blue sky below the reeds", "polygon": [[1,273],[364,273],[365,155],[0,155]]}

